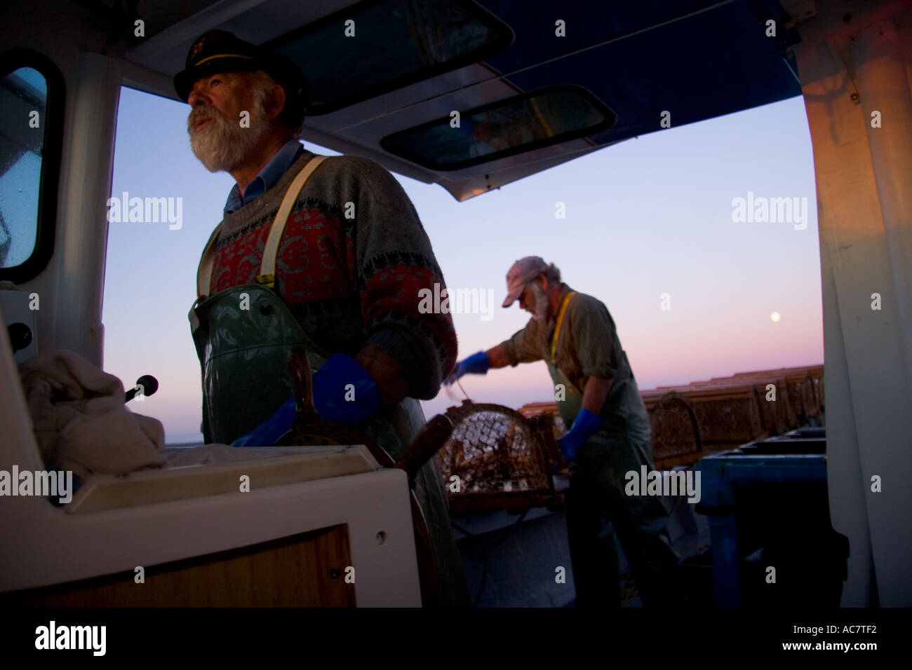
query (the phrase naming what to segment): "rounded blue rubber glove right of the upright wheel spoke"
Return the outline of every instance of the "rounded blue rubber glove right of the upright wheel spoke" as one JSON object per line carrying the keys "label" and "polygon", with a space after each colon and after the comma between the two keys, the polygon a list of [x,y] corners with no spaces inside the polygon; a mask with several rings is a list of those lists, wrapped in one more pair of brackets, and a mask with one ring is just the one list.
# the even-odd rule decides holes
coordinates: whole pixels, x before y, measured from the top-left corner
{"label": "rounded blue rubber glove right of the upright wheel spoke", "polygon": [[325,421],[351,426],[380,407],[383,401],[377,382],[351,356],[336,354],[314,373],[314,408]]}

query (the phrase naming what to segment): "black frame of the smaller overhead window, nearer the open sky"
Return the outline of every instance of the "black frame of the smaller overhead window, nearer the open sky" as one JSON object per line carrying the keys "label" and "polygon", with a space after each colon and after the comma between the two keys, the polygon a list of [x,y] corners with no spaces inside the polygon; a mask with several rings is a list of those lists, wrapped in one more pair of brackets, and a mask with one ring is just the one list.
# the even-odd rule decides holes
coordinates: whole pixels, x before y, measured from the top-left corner
{"label": "black frame of the smaller overhead window, nearer the open sky", "polygon": [[422,123],[420,126],[413,126],[412,128],[407,128],[404,130],[399,130],[390,135],[387,135],[385,138],[380,140],[380,146],[387,151],[388,153],[399,156],[405,160],[410,160],[416,165],[420,165],[422,168],[428,168],[429,170],[436,170],[440,172],[446,172],[449,170],[461,170],[463,168],[471,168],[474,165],[481,165],[482,163],[491,162],[492,160],[500,160],[507,158],[509,156],[515,156],[520,153],[527,153],[529,151],[534,151],[535,149],[542,149],[543,147],[550,147],[554,144],[560,144],[561,142],[566,142],[571,139],[585,138],[589,135],[596,135],[600,132],[604,132],[607,129],[610,129],[617,123],[617,114],[613,109],[606,106],[601,100],[596,98],[595,94],[592,93],[588,88],[583,88],[575,84],[557,84],[554,86],[546,86],[544,88],[535,88],[528,93],[523,93],[519,96],[513,96],[513,98],[503,98],[497,100],[496,102],[489,103],[487,105],[482,105],[482,107],[476,107],[472,109],[467,109],[461,112],[463,117],[469,117],[473,114],[478,114],[482,111],[487,111],[489,109],[503,107],[504,105],[513,104],[514,102],[519,102],[526,98],[535,98],[546,93],[551,93],[556,90],[570,91],[575,93],[581,98],[584,98],[592,107],[600,111],[604,116],[605,120],[601,123],[597,123],[595,126],[586,126],[586,128],[569,130],[567,132],[559,133],[554,135],[551,138],[536,139],[534,142],[529,142],[527,144],[521,144],[518,147],[510,147],[509,149],[502,149],[500,151],[494,151],[493,153],[485,154],[484,156],[476,156],[467,160],[460,160],[455,163],[436,163],[432,160],[427,160],[424,157],[412,153],[410,151],[401,151],[398,148],[393,148],[391,145],[396,140],[399,139],[402,135],[408,135],[420,130],[433,128],[434,126],[439,126],[440,124],[449,124],[450,117],[443,117],[441,119],[434,119],[428,121],[427,123]]}

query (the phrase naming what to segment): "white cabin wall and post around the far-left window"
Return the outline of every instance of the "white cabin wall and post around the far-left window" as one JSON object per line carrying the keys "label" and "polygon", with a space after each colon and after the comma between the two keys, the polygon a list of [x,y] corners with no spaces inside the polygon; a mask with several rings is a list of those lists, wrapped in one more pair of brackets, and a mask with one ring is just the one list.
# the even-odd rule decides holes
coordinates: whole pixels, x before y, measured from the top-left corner
{"label": "white cabin wall and post around the far-left window", "polygon": [[54,255],[35,279],[20,284],[39,296],[37,350],[69,349],[101,366],[106,202],[120,73],[117,60],[98,55],[108,36],[87,17],[73,3],[5,3],[0,48],[50,58],[66,88]]}

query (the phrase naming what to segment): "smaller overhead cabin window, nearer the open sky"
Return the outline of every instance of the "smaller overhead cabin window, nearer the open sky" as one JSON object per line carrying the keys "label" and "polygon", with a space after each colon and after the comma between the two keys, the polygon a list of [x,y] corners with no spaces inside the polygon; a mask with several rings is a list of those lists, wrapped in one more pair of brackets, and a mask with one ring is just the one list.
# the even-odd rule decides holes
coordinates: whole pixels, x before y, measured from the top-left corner
{"label": "smaller overhead cabin window, nearer the open sky", "polygon": [[585,88],[540,88],[400,130],[380,141],[431,170],[459,170],[606,130],[617,115]]}

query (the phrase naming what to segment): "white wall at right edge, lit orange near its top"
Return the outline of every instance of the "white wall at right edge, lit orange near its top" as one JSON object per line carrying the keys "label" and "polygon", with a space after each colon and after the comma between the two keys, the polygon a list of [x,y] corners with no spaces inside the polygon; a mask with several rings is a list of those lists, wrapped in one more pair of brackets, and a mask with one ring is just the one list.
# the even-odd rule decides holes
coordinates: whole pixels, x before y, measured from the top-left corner
{"label": "white wall at right edge, lit orange near its top", "polygon": [[909,606],[912,12],[817,9],[796,56],[817,180],[830,512],[851,547],[842,603]]}

